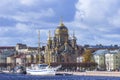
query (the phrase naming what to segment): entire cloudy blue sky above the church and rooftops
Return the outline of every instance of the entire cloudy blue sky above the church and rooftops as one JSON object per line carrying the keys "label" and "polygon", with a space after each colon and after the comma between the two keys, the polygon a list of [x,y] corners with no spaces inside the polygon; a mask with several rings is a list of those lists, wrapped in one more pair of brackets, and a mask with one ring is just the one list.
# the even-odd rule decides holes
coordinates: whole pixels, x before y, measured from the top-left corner
{"label": "entire cloudy blue sky above the church and rooftops", "polygon": [[[0,46],[47,42],[60,18],[77,44],[120,44],[120,0],[0,0]],[[43,45],[43,44],[41,44]]]}

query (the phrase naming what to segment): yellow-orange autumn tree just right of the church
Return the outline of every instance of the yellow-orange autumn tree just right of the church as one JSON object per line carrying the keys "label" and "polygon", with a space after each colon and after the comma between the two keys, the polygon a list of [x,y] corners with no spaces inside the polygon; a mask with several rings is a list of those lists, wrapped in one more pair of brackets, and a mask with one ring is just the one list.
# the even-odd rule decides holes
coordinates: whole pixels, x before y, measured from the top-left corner
{"label": "yellow-orange autumn tree just right of the church", "polygon": [[83,54],[83,62],[93,62],[93,55],[90,50],[85,50]]}

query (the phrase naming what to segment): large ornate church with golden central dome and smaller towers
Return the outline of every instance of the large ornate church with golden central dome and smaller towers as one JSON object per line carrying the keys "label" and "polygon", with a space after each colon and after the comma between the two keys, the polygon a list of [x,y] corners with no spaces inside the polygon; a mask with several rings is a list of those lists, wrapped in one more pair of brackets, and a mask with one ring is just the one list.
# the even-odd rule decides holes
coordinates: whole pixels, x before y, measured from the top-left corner
{"label": "large ornate church with golden central dome and smaller towers", "polygon": [[69,36],[68,28],[61,21],[54,36],[49,36],[45,47],[45,63],[73,63],[80,55],[80,48],[76,43],[75,33]]}

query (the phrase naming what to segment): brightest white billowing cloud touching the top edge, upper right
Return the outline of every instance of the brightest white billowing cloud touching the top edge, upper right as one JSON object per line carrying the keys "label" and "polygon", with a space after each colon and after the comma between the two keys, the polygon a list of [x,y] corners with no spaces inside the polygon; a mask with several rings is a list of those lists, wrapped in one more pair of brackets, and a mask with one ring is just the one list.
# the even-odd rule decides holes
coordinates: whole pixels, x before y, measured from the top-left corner
{"label": "brightest white billowing cloud touching the top edge, upper right", "polygon": [[109,15],[109,12],[112,12],[110,9],[113,6],[111,5],[114,5],[117,2],[117,0],[79,0],[76,4],[77,12],[75,18],[80,19],[81,13],[83,12],[85,19],[94,21],[103,20]]}

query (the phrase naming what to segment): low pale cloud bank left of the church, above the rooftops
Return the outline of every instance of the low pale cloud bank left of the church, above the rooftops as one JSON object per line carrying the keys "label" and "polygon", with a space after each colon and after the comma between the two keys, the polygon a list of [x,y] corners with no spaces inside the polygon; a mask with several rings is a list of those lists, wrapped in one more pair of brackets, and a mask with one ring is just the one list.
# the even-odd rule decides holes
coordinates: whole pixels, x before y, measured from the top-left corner
{"label": "low pale cloud bank left of the church, above the rooftops", "polygon": [[[49,23],[42,24],[46,28]],[[25,43],[32,46],[37,46],[38,30],[40,30],[41,42],[46,43],[48,30],[45,27],[40,27],[32,24],[17,23],[13,27],[0,27],[0,45],[15,45],[17,43]],[[41,44],[45,45],[45,44]]]}

